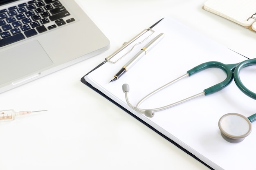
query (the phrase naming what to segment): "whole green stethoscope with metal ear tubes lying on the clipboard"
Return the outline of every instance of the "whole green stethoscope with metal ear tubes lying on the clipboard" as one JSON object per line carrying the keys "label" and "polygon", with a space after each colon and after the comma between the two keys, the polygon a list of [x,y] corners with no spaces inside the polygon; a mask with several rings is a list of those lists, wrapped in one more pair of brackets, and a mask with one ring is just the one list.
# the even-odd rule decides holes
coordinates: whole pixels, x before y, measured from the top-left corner
{"label": "whole green stethoscope with metal ear tubes lying on the clipboard", "polygon": [[[240,62],[238,64],[223,64],[221,62],[205,62],[202,63],[198,66],[195,66],[194,68],[192,68],[191,70],[187,71],[186,74],[178,77],[177,79],[174,79],[173,81],[165,84],[164,86],[161,86],[159,88],[157,88],[155,91],[152,91],[151,93],[149,93],[148,95],[146,95],[145,97],[143,97],[141,100],[139,100],[139,102],[136,104],[136,106],[133,106],[130,103],[130,100],[128,98],[128,92],[130,91],[129,89],[129,85],[128,84],[123,84],[122,89],[123,92],[125,93],[125,97],[126,97],[126,102],[128,104],[128,106],[130,106],[132,109],[136,110],[139,113],[143,113],[145,116],[147,117],[153,117],[155,115],[155,112],[157,111],[161,111],[161,110],[165,110],[168,108],[171,108],[173,106],[176,106],[178,104],[182,104],[186,101],[189,101],[191,99],[194,99],[196,97],[200,97],[202,95],[210,95],[212,93],[215,93],[217,91],[220,91],[221,89],[225,88],[226,86],[228,86],[233,77],[234,77],[234,81],[236,83],[236,85],[238,86],[238,88],[247,96],[256,99],[256,93],[253,93],[252,91],[250,91],[248,88],[246,88],[243,83],[240,80],[240,70],[246,66],[251,66],[256,64],[256,59],[250,59],[250,60],[245,60],[243,62]],[[150,109],[142,109],[139,108],[139,106],[146,101],[146,99],[148,99],[149,97],[151,97],[152,95],[154,95],[155,93],[161,91],[162,89],[170,86],[171,84],[179,81],[180,79],[183,79],[185,77],[191,76],[194,73],[197,73],[199,71],[205,70],[207,68],[220,68],[223,71],[225,71],[225,73],[227,74],[226,79],[223,82],[220,82],[214,86],[211,86],[207,89],[204,89],[203,92],[198,93],[196,95],[193,95],[191,97],[188,97],[186,99],[182,99],[178,102],[166,105],[166,106],[162,106],[159,108],[150,108]],[[247,137],[251,131],[252,131],[252,122],[254,122],[256,120],[256,114],[251,115],[250,117],[245,117],[243,115],[240,115],[238,113],[228,113],[226,115],[223,115],[218,123],[220,132],[222,137],[231,142],[231,143],[237,143],[240,141],[243,141],[243,139],[245,139],[245,137]]]}

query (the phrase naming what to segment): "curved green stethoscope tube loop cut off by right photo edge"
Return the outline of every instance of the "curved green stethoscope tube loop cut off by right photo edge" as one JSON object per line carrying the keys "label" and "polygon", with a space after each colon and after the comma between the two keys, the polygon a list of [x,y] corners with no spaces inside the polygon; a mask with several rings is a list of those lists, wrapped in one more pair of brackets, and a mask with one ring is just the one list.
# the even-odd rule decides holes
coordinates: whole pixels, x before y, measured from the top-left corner
{"label": "curved green stethoscope tube loop cut off by right photo edge", "polygon": [[246,66],[251,66],[254,64],[256,64],[256,59],[250,59],[250,60],[245,60],[243,62],[240,62],[234,70],[234,80],[236,82],[236,86],[238,86],[240,91],[242,91],[245,95],[253,99],[256,99],[256,93],[250,91],[248,88],[245,87],[245,85],[241,82],[240,75],[239,75],[242,68]]}

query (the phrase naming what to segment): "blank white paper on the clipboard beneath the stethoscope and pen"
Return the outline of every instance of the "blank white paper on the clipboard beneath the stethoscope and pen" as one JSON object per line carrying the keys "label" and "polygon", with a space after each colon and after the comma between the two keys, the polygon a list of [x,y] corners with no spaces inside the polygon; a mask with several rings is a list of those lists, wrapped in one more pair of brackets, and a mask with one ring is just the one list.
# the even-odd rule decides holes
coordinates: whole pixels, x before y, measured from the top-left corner
{"label": "blank white paper on the clipboard beneath the stethoscope and pen", "polygon": [[[234,150],[234,145],[222,139],[220,132],[218,130],[218,119],[221,117],[221,115],[234,111],[234,104],[237,106],[236,111],[238,113],[245,113],[250,115],[252,114],[252,112],[255,111],[253,110],[255,101],[253,99],[250,99],[249,97],[246,97],[242,93],[240,93],[238,88],[236,88],[236,85],[234,84],[234,82],[232,82],[231,85],[229,85],[229,87],[225,88],[224,90],[216,94],[210,95],[209,97],[205,97],[205,98],[200,97],[200,99],[195,99],[195,101],[191,101],[186,104],[179,105],[177,107],[175,106],[175,108],[168,109],[168,110],[172,110],[172,112],[175,114],[168,113],[168,110],[166,110],[166,111],[163,111],[163,113],[156,113],[156,115],[151,119],[151,118],[145,117],[141,113],[136,113],[135,110],[132,110],[131,108],[128,107],[124,99],[124,93],[121,90],[121,84],[124,82],[128,82],[129,84],[131,84],[130,100],[135,102],[137,98],[138,98],[137,99],[138,101],[139,99],[141,99],[142,97],[150,93],[151,91],[155,90],[156,87],[159,87],[159,84],[163,85],[165,81],[169,82],[171,80],[171,77],[177,77],[177,75],[182,75],[187,70],[191,69],[192,67],[198,64],[201,64],[202,62],[219,61],[225,64],[232,64],[232,63],[238,63],[247,59],[243,55],[240,55],[234,51],[227,49],[226,47],[221,46],[216,42],[213,42],[212,40],[209,40],[203,35],[196,33],[195,31],[180,24],[179,22],[176,22],[171,18],[163,18],[162,20],[159,20],[157,23],[153,24],[153,26],[151,26],[150,29],[154,30],[152,38],[155,35],[157,35],[159,32],[163,32],[167,36],[159,44],[157,44],[157,46],[154,47],[154,49],[150,51],[149,54],[147,54],[148,56],[144,56],[143,59],[141,59],[134,66],[135,68],[131,68],[131,71],[129,71],[128,73],[126,73],[126,75],[121,77],[120,80],[115,81],[115,84],[112,84],[112,83],[108,84],[108,82],[112,78],[112,76],[115,74],[115,72],[117,72],[119,68],[121,68],[120,66],[126,63],[127,60],[129,60],[132,57],[132,55],[134,55],[134,53],[138,51],[139,47],[138,49],[134,50],[134,53],[126,55],[117,63],[110,63],[109,61],[104,60],[92,71],[90,71],[85,76],[83,76],[81,78],[81,82],[83,82],[88,87],[92,88],[97,93],[101,94],[106,99],[110,100],[113,104],[119,106],[126,113],[132,115],[137,120],[141,121],[150,129],[154,130],[159,135],[161,135],[171,143],[175,144],[175,146],[179,147],[184,152],[191,155],[192,157],[194,157],[195,159],[203,163],[208,168],[218,169],[218,170],[224,170],[224,169],[235,170],[235,169],[241,169],[241,168],[250,169],[251,165],[248,165],[248,167],[245,167],[245,164],[246,165],[249,164],[248,162],[250,161],[250,159],[248,158],[246,159],[241,158],[240,163],[238,161],[234,163],[233,160],[230,160],[224,163],[222,161],[222,159],[223,158],[225,159],[225,157],[227,156],[228,157],[229,156],[232,157],[232,155],[234,156],[234,153],[231,153],[231,152],[230,154],[227,154],[227,153],[225,154],[227,150],[229,151],[231,149]],[[128,48],[128,51],[129,49],[132,48],[132,46],[133,45],[130,44],[130,48]],[[170,49],[172,48],[173,50],[170,52]],[[125,51],[124,53],[126,54],[126,52],[127,51]],[[185,55],[185,54],[189,54],[189,55]],[[157,60],[153,60],[155,59],[154,56],[159,56],[159,58],[157,58]],[[166,74],[160,75],[160,77],[162,76],[161,77],[162,82],[157,81],[157,79],[154,77],[155,80],[153,80],[152,87],[150,84],[150,86],[147,86],[144,88],[146,92],[139,91],[138,89],[136,89],[137,85],[138,85],[137,88],[140,88],[142,86],[141,84],[143,84],[144,81],[151,79],[151,77],[147,75],[147,71],[143,72],[144,69],[140,69],[140,67],[143,67],[143,66],[147,66],[151,68],[148,71],[149,72],[148,74],[152,73],[152,77],[154,77],[155,75],[159,75],[159,73],[166,73]],[[156,73],[157,71],[159,71],[159,73]],[[168,74],[168,71],[171,72],[172,74]],[[140,73],[140,72],[143,72],[141,73],[141,76],[137,76],[137,77],[133,76],[135,74],[137,75],[137,73]],[[101,73],[103,73],[103,75],[101,75]],[[210,78],[209,78],[209,75],[210,75]],[[188,82],[185,81],[181,83],[183,83],[183,85],[185,84],[185,86],[188,86],[189,84],[188,86],[189,90],[193,89],[195,91],[186,90],[185,93],[193,94],[193,93],[197,93],[196,92],[197,90],[205,89],[205,86],[209,86],[209,84],[216,83],[216,81],[220,82],[223,78],[225,78],[225,75],[221,71],[217,71],[215,69],[209,69],[209,70],[207,69],[207,71],[204,73],[200,73],[195,77],[188,78],[188,80],[186,80]],[[202,79],[206,81],[206,83],[205,84],[199,83],[198,85],[198,82]],[[195,86],[190,86],[191,83],[192,84],[195,83]],[[116,90],[118,89],[117,87],[120,88],[120,91]],[[181,89],[180,84],[177,84],[174,86],[174,90],[170,90],[168,88],[167,92],[169,93],[169,90],[170,90],[173,96],[179,97],[179,93],[177,92],[177,89],[184,90],[183,88]],[[162,97],[164,93],[166,92],[163,92],[161,94],[154,96],[155,98],[153,97],[153,99],[151,99],[145,105],[155,104],[156,99],[159,100],[159,104],[161,105],[162,104],[161,102],[165,102],[165,99]],[[187,95],[191,96],[190,94],[187,94]],[[242,107],[243,104],[241,103],[237,104],[239,103],[239,101],[235,101],[234,97],[240,100],[243,100],[245,103],[249,105],[249,107],[245,109],[244,107]],[[204,106],[200,106],[200,104],[203,104]],[[223,104],[223,105],[216,107],[218,104]],[[165,105],[165,104],[162,104],[162,105]],[[204,108],[204,107],[212,107],[212,108],[211,110],[207,111],[208,113],[204,114],[202,113],[202,110],[200,110],[200,108]],[[191,113],[186,113],[186,111]],[[218,114],[214,112],[218,112]],[[182,121],[180,121],[180,119],[182,119]],[[200,120],[207,120],[207,119],[209,119],[209,122],[199,123]],[[180,122],[176,124],[177,121],[180,121]],[[193,121],[195,122],[194,124],[193,124]],[[189,130],[192,130],[192,131],[198,130],[199,132],[198,133],[195,131],[189,132],[190,136],[186,137],[185,135],[186,125],[190,126]],[[194,127],[191,127],[191,125],[193,125]],[[203,128],[198,127],[199,125],[202,125]],[[172,131],[173,128],[175,129],[180,128],[181,130]],[[207,130],[209,131],[209,136],[207,136],[207,133],[208,133]],[[238,144],[236,146],[235,150],[237,149],[237,152],[239,152],[240,154],[241,152],[242,154],[249,154],[249,152],[252,152],[252,151],[246,151],[247,146],[248,145],[250,146],[250,144],[253,144],[254,141],[256,141],[256,137],[253,137],[253,134],[251,134],[250,136],[251,136],[250,139],[246,139],[246,141],[243,141],[243,143]],[[255,136],[256,136],[256,132],[255,132]],[[190,141],[190,137],[191,139],[192,137],[195,138],[195,141]],[[218,149],[214,150],[216,149],[215,146],[218,146],[218,145],[220,146],[221,149],[224,148],[224,150],[223,151],[219,151]],[[212,150],[211,147],[213,147],[214,149]],[[225,147],[227,148],[225,149]]]}

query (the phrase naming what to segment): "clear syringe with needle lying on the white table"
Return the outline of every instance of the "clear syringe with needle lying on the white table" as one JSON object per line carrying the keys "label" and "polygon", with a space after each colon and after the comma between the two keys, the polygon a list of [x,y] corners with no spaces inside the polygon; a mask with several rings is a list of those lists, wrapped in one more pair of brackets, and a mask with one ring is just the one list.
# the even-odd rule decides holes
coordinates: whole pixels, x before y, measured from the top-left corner
{"label": "clear syringe with needle lying on the white table", "polygon": [[0,111],[0,121],[11,121],[14,120],[16,115],[26,115],[29,113],[34,113],[34,112],[43,112],[47,110],[38,110],[38,111],[14,111],[13,109],[10,110],[1,110]]}

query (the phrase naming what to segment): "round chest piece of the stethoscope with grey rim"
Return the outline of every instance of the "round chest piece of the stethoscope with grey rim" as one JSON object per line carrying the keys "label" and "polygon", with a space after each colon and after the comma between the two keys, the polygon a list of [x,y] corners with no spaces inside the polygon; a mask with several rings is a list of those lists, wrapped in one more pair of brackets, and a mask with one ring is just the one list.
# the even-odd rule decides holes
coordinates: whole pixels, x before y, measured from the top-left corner
{"label": "round chest piece of the stethoscope with grey rim", "polygon": [[251,121],[238,113],[223,115],[218,123],[221,136],[228,142],[243,141],[252,132]]}

